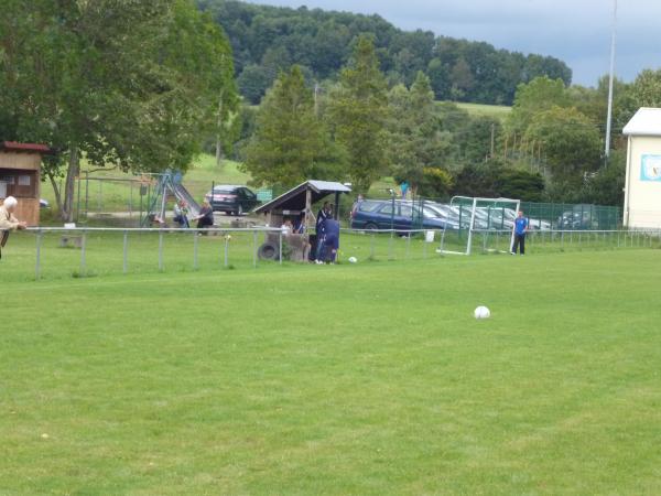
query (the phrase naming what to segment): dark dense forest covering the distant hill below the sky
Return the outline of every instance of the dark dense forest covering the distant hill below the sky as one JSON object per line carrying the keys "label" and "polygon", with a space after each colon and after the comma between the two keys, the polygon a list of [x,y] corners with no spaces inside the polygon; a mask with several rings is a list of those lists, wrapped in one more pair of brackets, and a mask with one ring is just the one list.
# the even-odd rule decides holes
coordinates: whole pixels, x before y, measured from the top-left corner
{"label": "dark dense forest covering the distant hill below the sky", "polygon": [[372,37],[389,86],[425,73],[437,100],[511,105],[517,86],[539,76],[571,84],[557,58],[497,50],[488,43],[407,32],[379,15],[197,0],[227,33],[241,95],[259,104],[281,71],[299,65],[311,82],[335,82],[359,35]]}

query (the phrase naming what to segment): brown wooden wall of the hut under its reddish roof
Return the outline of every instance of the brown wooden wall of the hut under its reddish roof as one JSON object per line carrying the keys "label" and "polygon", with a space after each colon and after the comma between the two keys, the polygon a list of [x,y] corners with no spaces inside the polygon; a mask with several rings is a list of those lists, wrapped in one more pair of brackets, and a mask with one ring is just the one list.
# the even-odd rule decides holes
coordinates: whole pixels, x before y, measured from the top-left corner
{"label": "brown wooden wall of the hut under its reddish roof", "polygon": [[[41,195],[41,155],[39,153],[15,153],[0,151],[0,181],[3,176],[12,177],[8,194],[14,194],[19,201],[15,216],[30,226],[39,226]],[[30,176],[30,186],[19,185],[19,176]],[[29,193],[26,193],[29,192]],[[4,198],[0,198],[0,202]]]}

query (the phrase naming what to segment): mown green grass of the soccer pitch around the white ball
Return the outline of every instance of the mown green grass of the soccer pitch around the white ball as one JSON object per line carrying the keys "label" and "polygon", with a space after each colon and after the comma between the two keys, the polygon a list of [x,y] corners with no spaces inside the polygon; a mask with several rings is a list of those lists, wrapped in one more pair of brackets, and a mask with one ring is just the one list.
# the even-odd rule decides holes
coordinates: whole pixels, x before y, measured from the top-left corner
{"label": "mown green grass of the soccer pitch around the white ball", "polygon": [[3,277],[0,494],[655,494],[660,254]]}

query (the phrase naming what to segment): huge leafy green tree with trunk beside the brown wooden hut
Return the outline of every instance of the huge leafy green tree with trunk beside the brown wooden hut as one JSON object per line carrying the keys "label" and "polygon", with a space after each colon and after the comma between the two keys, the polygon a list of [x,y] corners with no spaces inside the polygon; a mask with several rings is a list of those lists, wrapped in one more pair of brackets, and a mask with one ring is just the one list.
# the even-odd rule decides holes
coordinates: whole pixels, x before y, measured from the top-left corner
{"label": "huge leafy green tree with trunk beside the brown wooden hut", "polygon": [[236,106],[229,44],[192,1],[12,0],[3,9],[0,133],[59,151],[44,174],[65,220],[82,159],[185,170]]}

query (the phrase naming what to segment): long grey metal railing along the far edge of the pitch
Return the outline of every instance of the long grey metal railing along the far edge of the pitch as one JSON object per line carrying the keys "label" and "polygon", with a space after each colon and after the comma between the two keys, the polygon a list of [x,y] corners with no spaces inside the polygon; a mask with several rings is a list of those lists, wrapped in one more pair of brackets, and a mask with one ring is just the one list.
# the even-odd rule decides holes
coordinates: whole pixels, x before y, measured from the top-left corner
{"label": "long grey metal railing along the far edge of the pitch", "polygon": [[[202,236],[203,234],[207,236]],[[466,231],[449,229],[342,229],[339,261],[422,260],[440,257],[442,235],[460,251]],[[475,252],[510,250],[510,229],[474,229]],[[288,234],[280,228],[104,228],[34,227],[12,233],[0,278],[88,277],[98,273],[258,268],[262,242],[277,242],[275,265],[288,260]],[[454,244],[454,245],[453,245]],[[660,248],[661,229],[532,230],[534,252]],[[11,261],[10,261],[11,260]],[[30,265],[34,270],[30,271]],[[28,270],[26,270],[28,268]],[[30,273],[33,276],[30,277]]]}

